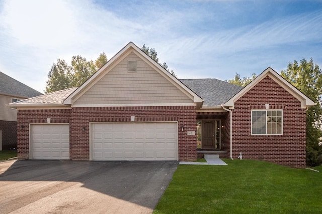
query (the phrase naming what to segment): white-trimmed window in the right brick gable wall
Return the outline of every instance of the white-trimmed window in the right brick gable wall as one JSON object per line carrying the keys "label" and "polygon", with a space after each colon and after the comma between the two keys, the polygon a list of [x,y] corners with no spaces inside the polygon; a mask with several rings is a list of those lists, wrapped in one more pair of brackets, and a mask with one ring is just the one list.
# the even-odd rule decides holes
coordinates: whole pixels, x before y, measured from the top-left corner
{"label": "white-trimmed window in the right brick gable wall", "polygon": [[283,110],[252,110],[252,135],[282,135]]}

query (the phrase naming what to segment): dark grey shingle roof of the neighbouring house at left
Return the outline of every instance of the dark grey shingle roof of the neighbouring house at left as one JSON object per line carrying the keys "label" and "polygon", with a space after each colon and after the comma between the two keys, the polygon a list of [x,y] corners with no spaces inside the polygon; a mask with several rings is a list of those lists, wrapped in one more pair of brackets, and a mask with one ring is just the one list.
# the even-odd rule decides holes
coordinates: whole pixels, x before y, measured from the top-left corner
{"label": "dark grey shingle roof of the neighbouring house at left", "polygon": [[29,98],[42,93],[0,72],[0,94]]}

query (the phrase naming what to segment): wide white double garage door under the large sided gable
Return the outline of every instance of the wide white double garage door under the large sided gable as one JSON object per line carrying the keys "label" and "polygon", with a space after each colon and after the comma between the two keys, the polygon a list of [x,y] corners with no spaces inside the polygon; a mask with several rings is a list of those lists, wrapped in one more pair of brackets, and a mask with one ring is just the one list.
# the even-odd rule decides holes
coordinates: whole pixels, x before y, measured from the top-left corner
{"label": "wide white double garage door under the large sided gable", "polygon": [[177,122],[91,123],[93,160],[178,160]]}

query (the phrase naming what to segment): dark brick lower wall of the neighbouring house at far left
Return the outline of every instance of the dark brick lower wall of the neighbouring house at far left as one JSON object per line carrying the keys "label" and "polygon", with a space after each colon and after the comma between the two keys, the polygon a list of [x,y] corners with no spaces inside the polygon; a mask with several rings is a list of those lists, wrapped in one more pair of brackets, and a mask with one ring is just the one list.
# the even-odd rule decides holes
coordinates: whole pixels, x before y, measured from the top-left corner
{"label": "dark brick lower wall of the neighbouring house at far left", "polygon": [[2,150],[17,149],[17,122],[0,120]]}

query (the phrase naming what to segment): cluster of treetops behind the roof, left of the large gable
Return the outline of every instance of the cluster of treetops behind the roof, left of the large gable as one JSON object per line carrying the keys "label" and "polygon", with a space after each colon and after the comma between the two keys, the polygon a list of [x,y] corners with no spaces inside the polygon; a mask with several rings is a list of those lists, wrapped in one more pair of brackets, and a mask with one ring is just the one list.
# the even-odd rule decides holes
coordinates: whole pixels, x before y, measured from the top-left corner
{"label": "cluster of treetops behind the roof, left of the large gable", "polygon": [[70,66],[64,60],[58,59],[48,73],[45,93],[80,86],[106,63],[107,57],[104,52],[95,62],[79,55],[73,56]]}

